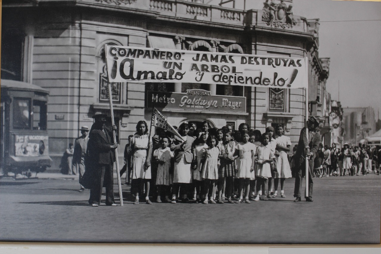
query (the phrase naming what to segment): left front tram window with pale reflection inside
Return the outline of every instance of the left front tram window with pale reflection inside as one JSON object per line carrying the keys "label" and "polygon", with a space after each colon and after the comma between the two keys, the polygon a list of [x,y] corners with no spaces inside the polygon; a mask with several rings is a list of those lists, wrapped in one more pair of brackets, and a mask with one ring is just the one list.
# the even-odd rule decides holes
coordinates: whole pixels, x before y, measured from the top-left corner
{"label": "left front tram window with pale reflection inside", "polygon": [[13,129],[30,129],[30,100],[14,98],[13,100]]}

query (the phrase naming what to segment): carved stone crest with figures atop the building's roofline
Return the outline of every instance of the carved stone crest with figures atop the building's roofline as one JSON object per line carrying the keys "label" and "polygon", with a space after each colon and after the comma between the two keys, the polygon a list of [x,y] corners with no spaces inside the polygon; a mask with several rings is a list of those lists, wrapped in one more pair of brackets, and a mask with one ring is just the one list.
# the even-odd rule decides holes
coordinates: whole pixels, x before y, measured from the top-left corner
{"label": "carved stone crest with figures atop the building's roofline", "polygon": [[262,21],[271,27],[291,28],[296,25],[293,17],[292,5],[287,5],[280,1],[266,0],[263,7]]}

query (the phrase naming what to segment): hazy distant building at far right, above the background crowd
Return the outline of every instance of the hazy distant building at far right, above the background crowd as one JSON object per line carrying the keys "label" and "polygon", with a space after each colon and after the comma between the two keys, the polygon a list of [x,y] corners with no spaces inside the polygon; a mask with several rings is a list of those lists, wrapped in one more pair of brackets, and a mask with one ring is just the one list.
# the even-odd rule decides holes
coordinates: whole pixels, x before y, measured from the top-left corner
{"label": "hazy distant building at far right, above the background crowd", "polygon": [[358,144],[360,140],[376,132],[375,111],[367,108],[344,108],[344,141]]}

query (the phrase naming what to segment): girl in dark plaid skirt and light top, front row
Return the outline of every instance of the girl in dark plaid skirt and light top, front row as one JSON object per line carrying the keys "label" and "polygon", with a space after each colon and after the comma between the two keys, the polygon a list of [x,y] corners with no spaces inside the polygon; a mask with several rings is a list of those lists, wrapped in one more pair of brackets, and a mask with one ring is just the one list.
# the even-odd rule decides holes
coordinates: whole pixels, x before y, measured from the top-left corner
{"label": "girl in dark plaid skirt and light top, front row", "polygon": [[227,132],[224,134],[223,143],[219,145],[220,149],[220,163],[218,169],[218,204],[224,204],[222,200],[222,192],[224,182],[226,180],[226,193],[228,195],[227,202],[234,203],[231,198],[233,181],[235,175],[235,143],[233,141],[232,132]]}

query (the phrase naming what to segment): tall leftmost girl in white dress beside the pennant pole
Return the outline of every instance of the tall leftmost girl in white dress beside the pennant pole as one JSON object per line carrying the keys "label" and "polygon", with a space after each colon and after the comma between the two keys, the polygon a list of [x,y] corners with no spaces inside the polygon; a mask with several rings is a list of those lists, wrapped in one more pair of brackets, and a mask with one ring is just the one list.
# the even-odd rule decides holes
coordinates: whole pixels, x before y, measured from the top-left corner
{"label": "tall leftmost girl in white dress beside the pennant pole", "polygon": [[[149,180],[151,179],[151,154],[152,141],[147,135],[148,128],[146,121],[139,121],[136,125],[136,134],[131,138],[130,151],[132,151],[132,179],[135,180],[136,199],[134,204],[139,204],[139,193],[146,190],[146,203],[152,204],[149,200]],[[144,186],[145,185],[145,186]]]}

